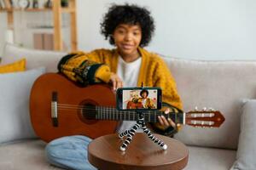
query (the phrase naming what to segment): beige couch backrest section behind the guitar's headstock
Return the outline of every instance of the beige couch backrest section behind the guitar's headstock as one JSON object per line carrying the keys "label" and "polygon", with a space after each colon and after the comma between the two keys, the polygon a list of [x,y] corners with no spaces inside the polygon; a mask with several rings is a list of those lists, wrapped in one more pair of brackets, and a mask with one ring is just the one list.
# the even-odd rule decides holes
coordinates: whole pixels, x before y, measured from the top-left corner
{"label": "beige couch backrest section behind the guitar's headstock", "polygon": [[175,138],[185,144],[236,149],[241,99],[256,97],[256,61],[164,59],[176,79],[184,111],[212,107],[225,117],[219,128],[184,126]]}

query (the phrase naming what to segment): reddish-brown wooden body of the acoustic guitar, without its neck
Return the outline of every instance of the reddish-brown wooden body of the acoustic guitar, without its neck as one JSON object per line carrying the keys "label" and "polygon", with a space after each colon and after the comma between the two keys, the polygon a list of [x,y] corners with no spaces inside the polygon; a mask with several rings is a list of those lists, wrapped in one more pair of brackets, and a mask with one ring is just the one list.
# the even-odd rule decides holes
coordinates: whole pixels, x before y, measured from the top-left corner
{"label": "reddish-brown wooden body of the acoustic guitar, without its neck", "polygon": [[[54,92],[58,104],[57,126],[54,126],[51,116]],[[118,122],[88,119],[86,115],[90,111],[84,112],[81,109],[83,105],[115,107],[115,95],[108,86],[79,87],[56,73],[46,73],[38,77],[30,96],[31,122],[35,133],[49,142],[68,135],[82,134],[95,139],[115,132]]]}

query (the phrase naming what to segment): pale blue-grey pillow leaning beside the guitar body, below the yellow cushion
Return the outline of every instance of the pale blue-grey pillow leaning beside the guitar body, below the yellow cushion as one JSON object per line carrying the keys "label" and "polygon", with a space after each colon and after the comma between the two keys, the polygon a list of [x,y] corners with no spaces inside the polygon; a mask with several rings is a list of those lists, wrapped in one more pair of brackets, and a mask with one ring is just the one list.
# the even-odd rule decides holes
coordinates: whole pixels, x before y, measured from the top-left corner
{"label": "pale blue-grey pillow leaning beside the guitar body, below the yellow cushion", "polygon": [[16,139],[35,138],[29,115],[33,82],[44,68],[0,74],[0,144]]}

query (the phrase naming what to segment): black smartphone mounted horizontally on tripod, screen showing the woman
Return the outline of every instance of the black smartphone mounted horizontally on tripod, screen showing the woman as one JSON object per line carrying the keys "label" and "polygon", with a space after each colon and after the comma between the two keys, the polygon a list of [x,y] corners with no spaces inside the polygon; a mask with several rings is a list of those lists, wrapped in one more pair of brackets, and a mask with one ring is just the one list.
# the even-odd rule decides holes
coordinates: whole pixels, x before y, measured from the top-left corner
{"label": "black smartphone mounted horizontally on tripod, screen showing the woman", "polygon": [[119,111],[160,110],[161,88],[118,88],[116,104]]}

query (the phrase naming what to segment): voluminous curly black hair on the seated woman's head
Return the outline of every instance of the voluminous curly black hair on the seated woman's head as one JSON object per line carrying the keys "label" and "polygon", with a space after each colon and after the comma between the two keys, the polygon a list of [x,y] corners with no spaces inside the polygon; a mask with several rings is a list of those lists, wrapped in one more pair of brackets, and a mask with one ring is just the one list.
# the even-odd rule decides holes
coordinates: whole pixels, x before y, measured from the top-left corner
{"label": "voluminous curly black hair on the seated woman's head", "polygon": [[113,31],[120,24],[139,25],[142,28],[142,41],[140,47],[145,47],[150,42],[154,33],[154,19],[146,8],[137,5],[116,5],[113,4],[108,13],[104,15],[101,23],[101,33],[110,44],[114,45]]}

